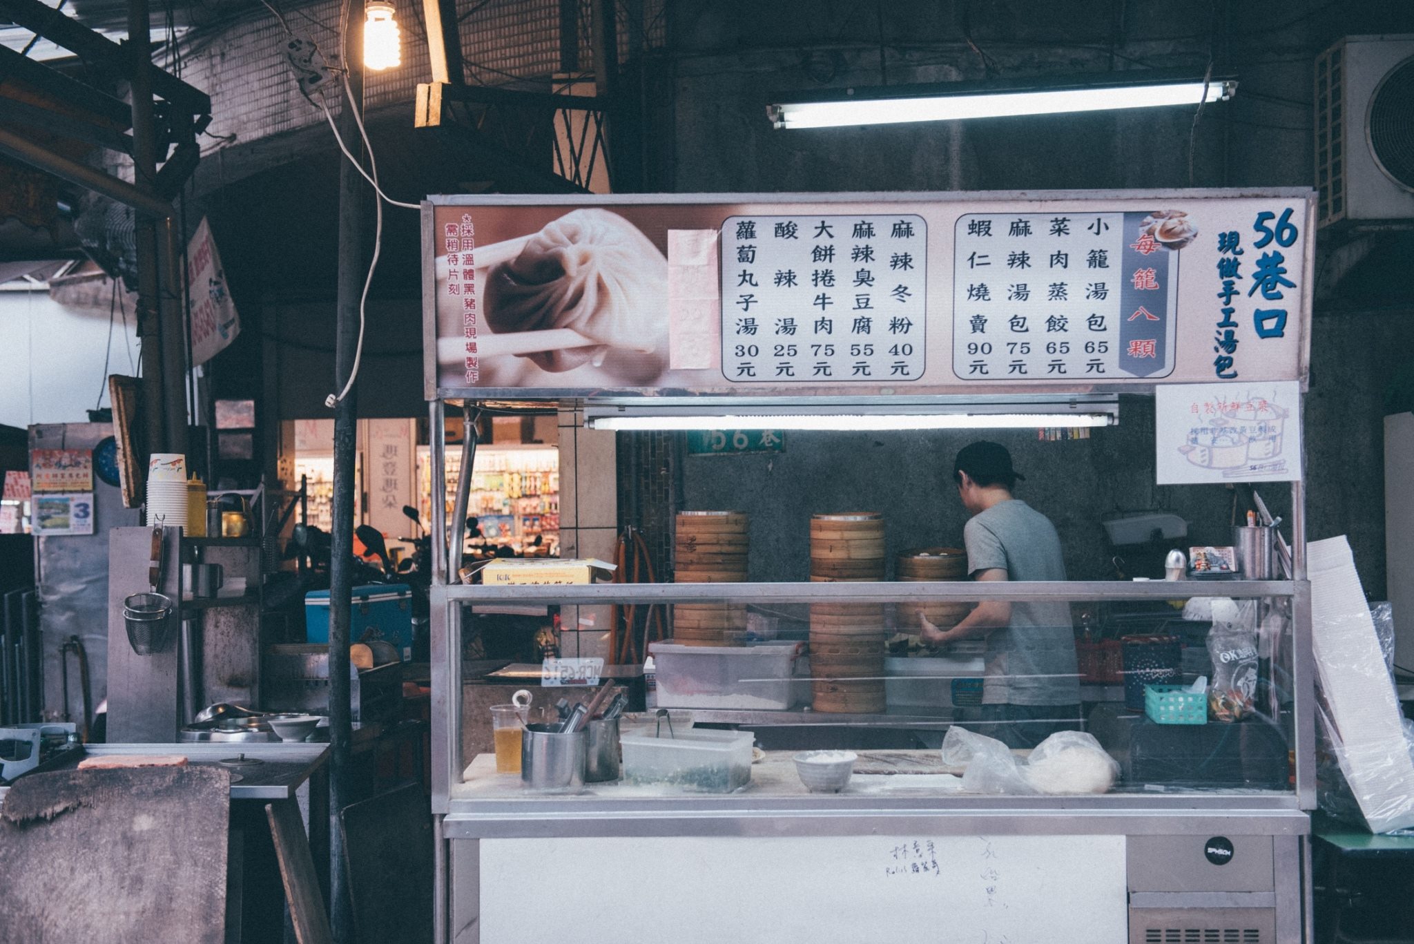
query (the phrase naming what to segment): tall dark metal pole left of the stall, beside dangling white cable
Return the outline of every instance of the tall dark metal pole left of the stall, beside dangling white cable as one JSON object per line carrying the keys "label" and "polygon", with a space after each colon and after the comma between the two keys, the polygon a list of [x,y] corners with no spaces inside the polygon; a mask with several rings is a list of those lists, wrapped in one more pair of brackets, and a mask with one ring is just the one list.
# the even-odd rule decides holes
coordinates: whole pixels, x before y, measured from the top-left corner
{"label": "tall dark metal pole left of the stall, beside dangling white cable", "polygon": [[[362,48],[363,0],[348,0],[348,33],[344,50]],[[339,136],[349,150],[362,156],[354,109],[362,105],[363,71],[354,68],[354,57],[339,65],[348,68],[349,92],[339,113]],[[338,290],[334,331],[334,389],[348,382],[358,344],[359,297],[365,277],[363,258],[363,183],[358,168],[339,161],[339,246]],[[344,834],[339,814],[349,802],[352,787],[352,706],[349,703],[349,623],[354,599],[354,451],[356,447],[358,392],[334,406],[334,501],[329,534],[329,927],[338,944],[354,940],[354,909],[349,899]]]}

